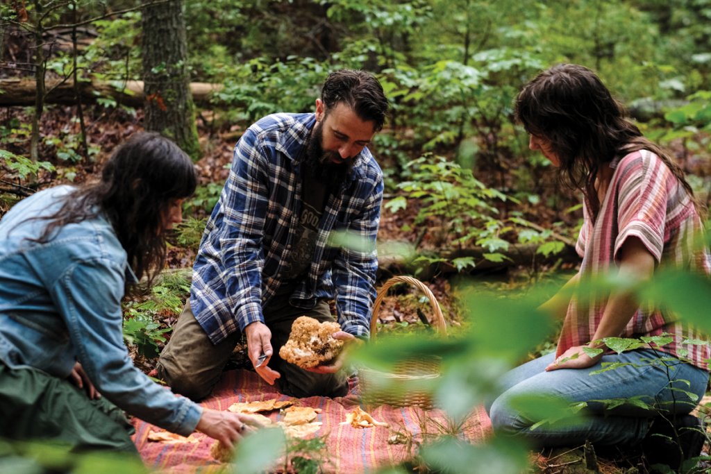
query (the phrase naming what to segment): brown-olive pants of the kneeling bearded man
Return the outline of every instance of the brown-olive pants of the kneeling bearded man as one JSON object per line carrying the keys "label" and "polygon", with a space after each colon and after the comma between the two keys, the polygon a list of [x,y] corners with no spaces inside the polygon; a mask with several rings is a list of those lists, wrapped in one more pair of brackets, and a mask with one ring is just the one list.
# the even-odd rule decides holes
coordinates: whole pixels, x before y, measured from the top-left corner
{"label": "brown-olive pants of the kneeling bearded man", "polygon": [[[292,397],[343,397],[348,393],[345,375],[316,374],[301,369],[279,357],[279,348],[287,343],[292,323],[299,316],[311,316],[319,321],[334,321],[326,301],[319,301],[311,310],[296,308],[283,298],[269,304],[262,311],[269,330],[272,331],[274,354],[269,367],[279,372],[279,390]],[[173,335],[156,365],[158,376],[164,379],[173,392],[199,401],[207,397],[218,383],[232,350],[240,342],[242,333],[235,331],[225,340],[213,344],[190,308],[190,301],[183,308]]]}

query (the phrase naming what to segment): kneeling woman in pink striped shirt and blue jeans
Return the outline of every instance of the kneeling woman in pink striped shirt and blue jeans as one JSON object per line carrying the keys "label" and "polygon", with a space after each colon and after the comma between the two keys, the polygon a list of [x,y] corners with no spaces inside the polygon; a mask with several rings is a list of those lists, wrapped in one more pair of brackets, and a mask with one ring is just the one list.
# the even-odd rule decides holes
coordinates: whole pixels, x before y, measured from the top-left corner
{"label": "kneeling woman in pink striped shirt and blue jeans", "polygon": [[[592,70],[566,64],[540,73],[520,91],[515,116],[530,134],[530,149],[557,167],[568,188],[582,190],[584,225],[577,242],[582,264],[565,289],[542,306],[564,318],[557,351],[504,377],[501,394],[487,407],[493,427],[545,447],[585,441],[656,446],[647,450],[648,461],[678,468],[682,458],[698,456],[704,441],[701,422],[690,411],[705,392],[711,353],[707,344],[688,344],[703,336],[673,313],[636,301],[629,289],[597,294],[593,301],[570,298],[570,290],[609,273],[631,286],[643,284],[658,266],[711,274],[707,249],[695,240],[705,210],[669,154],[626,119]],[[665,334],[673,338],[668,344],[621,354],[603,341]],[[586,348],[602,352],[591,357]],[[610,362],[620,366],[591,374]],[[574,424],[535,426],[542,420],[513,408],[515,399],[530,395],[584,402],[587,416]],[[631,402],[606,409],[601,401],[612,399]]]}

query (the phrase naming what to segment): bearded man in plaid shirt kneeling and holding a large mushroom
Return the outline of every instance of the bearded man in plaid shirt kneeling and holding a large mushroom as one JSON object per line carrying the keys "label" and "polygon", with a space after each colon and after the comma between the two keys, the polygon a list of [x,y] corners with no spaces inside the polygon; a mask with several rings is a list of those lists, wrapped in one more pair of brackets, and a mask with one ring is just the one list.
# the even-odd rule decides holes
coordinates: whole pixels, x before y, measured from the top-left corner
{"label": "bearded man in plaid shirt kneeling and holding a large mushroom", "polygon": [[[244,333],[257,374],[284,394],[348,392],[341,360],[304,370],[279,348],[299,316],[334,321],[331,299],[335,338],[370,335],[383,173],[367,147],[387,109],[373,75],[338,70],[315,114],[272,114],[245,131],[205,227],[190,299],[156,367],[173,391],[210,394]],[[334,232],[365,244],[336,244]]]}

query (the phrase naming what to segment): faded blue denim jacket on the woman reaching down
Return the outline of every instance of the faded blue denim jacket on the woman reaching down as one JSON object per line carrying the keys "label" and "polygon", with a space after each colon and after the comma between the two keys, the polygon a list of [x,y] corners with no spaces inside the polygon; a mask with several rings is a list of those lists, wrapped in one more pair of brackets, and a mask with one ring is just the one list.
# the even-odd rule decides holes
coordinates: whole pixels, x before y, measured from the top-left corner
{"label": "faded blue denim jacket on the woman reaching down", "polygon": [[105,216],[41,235],[59,186],[14,205],[0,221],[0,360],[67,377],[75,361],[101,394],[134,416],[187,436],[202,409],[134,367],[122,336],[121,299],[132,271]]}

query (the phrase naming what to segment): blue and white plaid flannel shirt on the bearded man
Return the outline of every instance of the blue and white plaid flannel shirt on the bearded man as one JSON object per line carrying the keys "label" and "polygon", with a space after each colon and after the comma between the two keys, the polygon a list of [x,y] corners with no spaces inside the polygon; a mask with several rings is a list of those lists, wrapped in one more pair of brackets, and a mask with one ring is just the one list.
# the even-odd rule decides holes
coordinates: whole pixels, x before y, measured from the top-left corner
{"label": "blue and white plaid flannel shirt on the bearded man", "polygon": [[[314,114],[272,114],[250,126],[235,146],[232,168],[208,220],[193,266],[191,308],[213,343],[255,321],[279,288],[301,213],[301,159]],[[378,259],[375,239],[383,173],[368,149],[328,197],[308,276],[289,301],[313,308],[335,298],[342,330],[370,335]],[[330,239],[343,231],[365,245]],[[340,234],[340,232],[339,232]]]}

